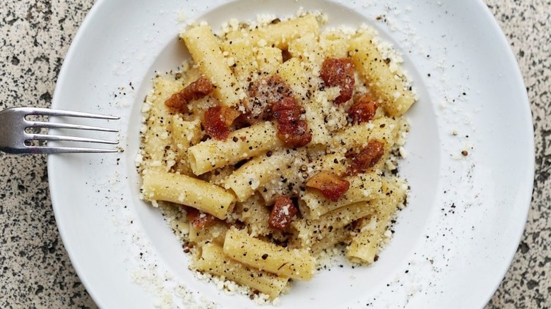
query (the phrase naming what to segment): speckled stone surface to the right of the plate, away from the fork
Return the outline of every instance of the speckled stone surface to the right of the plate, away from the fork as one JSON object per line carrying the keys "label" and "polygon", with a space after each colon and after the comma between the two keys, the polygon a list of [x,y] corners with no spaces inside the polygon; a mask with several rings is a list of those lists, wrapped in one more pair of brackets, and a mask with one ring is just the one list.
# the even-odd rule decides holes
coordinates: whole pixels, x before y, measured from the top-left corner
{"label": "speckled stone surface to the right of the plate, away from the fork", "polygon": [[528,222],[488,308],[551,308],[551,1],[486,1],[519,61],[531,101],[535,180]]}

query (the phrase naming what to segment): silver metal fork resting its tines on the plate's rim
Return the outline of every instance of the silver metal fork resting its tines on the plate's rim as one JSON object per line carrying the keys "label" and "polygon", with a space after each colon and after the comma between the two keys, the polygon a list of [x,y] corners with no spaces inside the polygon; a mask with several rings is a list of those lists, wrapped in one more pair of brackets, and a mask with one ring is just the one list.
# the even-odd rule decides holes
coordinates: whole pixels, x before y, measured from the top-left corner
{"label": "silver metal fork resting its tines on the plate's rim", "polygon": [[51,147],[28,145],[32,141],[69,141],[85,143],[102,143],[117,145],[118,141],[99,140],[95,138],[80,138],[75,136],[32,134],[27,133],[27,128],[67,128],[77,130],[93,130],[105,132],[118,132],[111,128],[97,126],[81,126],[69,123],[55,123],[42,121],[28,121],[26,116],[68,116],[94,119],[117,120],[116,116],[81,113],[78,111],[64,111],[60,109],[41,109],[34,107],[15,107],[0,111],[0,151],[12,154],[56,154],[56,153],[83,153],[83,152],[118,152],[118,149],[102,149],[88,147]]}

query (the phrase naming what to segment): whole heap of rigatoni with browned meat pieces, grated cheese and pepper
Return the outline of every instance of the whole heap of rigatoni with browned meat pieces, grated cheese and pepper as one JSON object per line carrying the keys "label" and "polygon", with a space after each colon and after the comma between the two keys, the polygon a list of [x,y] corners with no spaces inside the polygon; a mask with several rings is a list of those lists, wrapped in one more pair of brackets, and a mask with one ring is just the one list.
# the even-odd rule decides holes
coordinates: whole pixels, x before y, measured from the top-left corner
{"label": "whole heap of rigatoni with browned meat pieces, grated cheese and pepper", "polygon": [[408,192],[396,164],[415,92],[374,30],[323,20],[190,25],[193,61],[143,105],[141,197],[186,225],[191,269],[251,296],[312,279],[336,246],[372,264]]}

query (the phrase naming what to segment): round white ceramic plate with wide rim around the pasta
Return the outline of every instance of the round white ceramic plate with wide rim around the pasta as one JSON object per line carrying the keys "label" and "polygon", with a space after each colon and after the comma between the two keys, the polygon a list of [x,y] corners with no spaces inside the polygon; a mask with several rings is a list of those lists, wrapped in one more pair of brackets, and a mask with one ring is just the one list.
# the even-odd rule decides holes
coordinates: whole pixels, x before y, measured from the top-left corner
{"label": "round white ceramic plate with wide rim around the pasta", "polygon": [[138,200],[140,108],[154,72],[186,56],[182,16],[218,28],[300,7],[323,11],[330,25],[377,28],[403,53],[420,100],[408,113],[401,174],[411,195],[393,241],[372,267],[295,284],[280,308],[480,308],[492,296],[523,232],[534,151],[519,68],[482,1],[100,0],[66,56],[53,107],[122,116],[110,125],[124,152],[48,162],[59,232],[97,305],[185,308],[191,297],[254,307],[195,279],[158,210]]}

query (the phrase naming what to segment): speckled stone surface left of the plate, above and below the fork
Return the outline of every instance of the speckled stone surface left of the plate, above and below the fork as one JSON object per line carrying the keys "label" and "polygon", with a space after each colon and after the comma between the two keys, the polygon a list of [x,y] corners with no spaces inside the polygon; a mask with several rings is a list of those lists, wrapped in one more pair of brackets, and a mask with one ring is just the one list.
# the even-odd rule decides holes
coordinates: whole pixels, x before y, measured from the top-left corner
{"label": "speckled stone surface left of the plate, above and below the fork", "polygon": [[[0,109],[49,107],[64,56],[92,1],[0,4]],[[45,156],[0,153],[0,308],[94,308],[65,251]]]}

